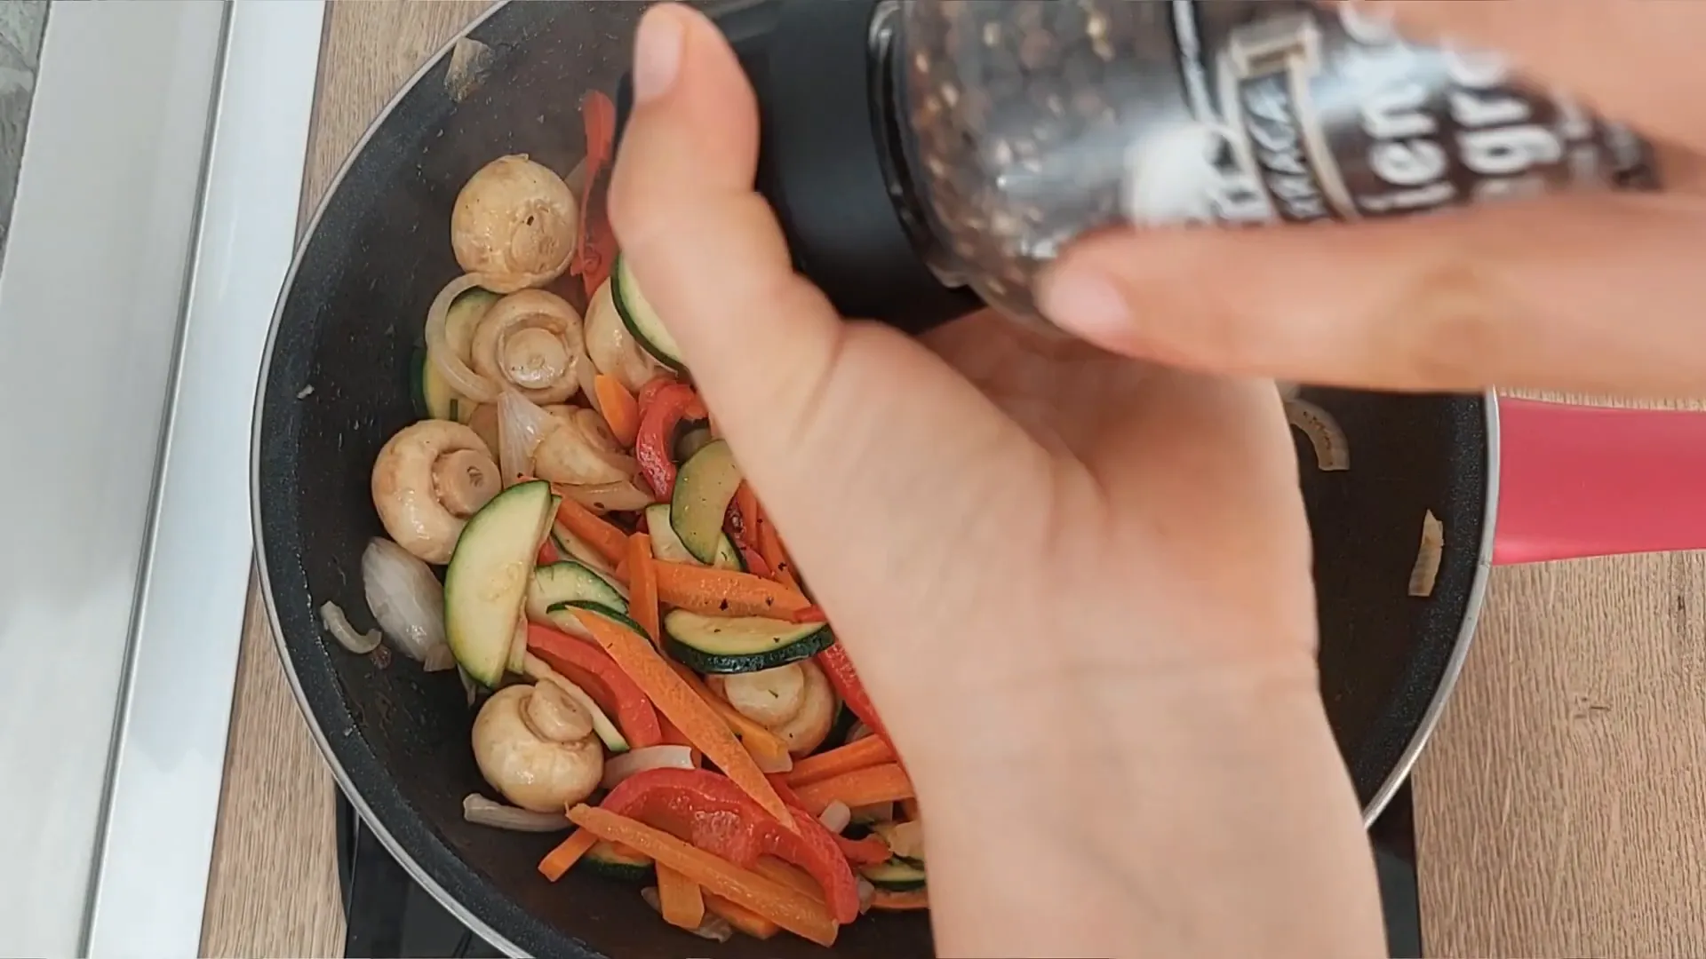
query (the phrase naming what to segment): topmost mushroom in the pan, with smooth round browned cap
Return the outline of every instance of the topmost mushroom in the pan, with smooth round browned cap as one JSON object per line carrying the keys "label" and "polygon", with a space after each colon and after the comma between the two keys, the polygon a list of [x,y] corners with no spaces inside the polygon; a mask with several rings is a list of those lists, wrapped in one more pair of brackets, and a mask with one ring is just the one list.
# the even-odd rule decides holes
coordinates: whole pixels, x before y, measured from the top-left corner
{"label": "topmost mushroom in the pan, with smooth round browned cap", "polygon": [[563,177],[525,154],[498,157],[456,196],[450,249],[483,287],[514,294],[568,270],[578,225],[580,203]]}

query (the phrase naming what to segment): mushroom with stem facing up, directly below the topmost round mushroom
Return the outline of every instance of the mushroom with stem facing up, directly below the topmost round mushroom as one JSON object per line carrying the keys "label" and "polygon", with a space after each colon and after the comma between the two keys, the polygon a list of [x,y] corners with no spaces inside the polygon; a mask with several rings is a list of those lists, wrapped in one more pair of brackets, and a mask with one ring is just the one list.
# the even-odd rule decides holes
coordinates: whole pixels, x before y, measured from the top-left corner
{"label": "mushroom with stem facing up, directly below the topmost round mushroom", "polygon": [[544,290],[510,294],[491,305],[469,345],[474,372],[537,404],[563,403],[580,389],[587,363],[580,314]]}

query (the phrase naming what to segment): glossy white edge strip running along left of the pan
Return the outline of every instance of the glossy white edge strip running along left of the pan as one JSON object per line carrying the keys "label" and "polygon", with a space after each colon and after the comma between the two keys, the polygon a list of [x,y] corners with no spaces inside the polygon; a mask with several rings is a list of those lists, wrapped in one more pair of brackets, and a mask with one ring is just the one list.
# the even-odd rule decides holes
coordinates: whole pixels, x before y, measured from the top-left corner
{"label": "glossy white edge strip running along left of the pan", "polygon": [[[70,29],[68,20],[96,20],[87,31],[107,43],[138,43],[111,22],[116,7],[131,5],[78,7],[49,9],[49,48],[56,29]],[[106,795],[80,903],[80,942],[55,942],[99,957],[201,952],[252,561],[251,408],[295,242],[324,17],[321,0],[177,0],[172,14],[162,10],[165,3],[133,7],[152,7],[155,22],[176,19],[181,36],[194,36],[194,48],[179,56],[206,56],[210,99],[196,131],[200,164],[186,171],[200,172],[200,203],[181,212],[189,222],[183,271],[174,276],[179,323],[159,396],[164,421],[109,725]],[[51,94],[53,53],[43,56],[36,109]],[[77,58],[84,70],[102,70],[109,61],[109,51],[89,38],[61,55]],[[136,80],[107,72],[106,82]],[[39,135],[32,121],[27,150],[49,148]],[[159,229],[159,213],[157,206],[148,227]],[[150,244],[165,237],[145,229],[123,239]],[[20,237],[14,234],[12,242]],[[43,950],[68,952],[46,940]]]}

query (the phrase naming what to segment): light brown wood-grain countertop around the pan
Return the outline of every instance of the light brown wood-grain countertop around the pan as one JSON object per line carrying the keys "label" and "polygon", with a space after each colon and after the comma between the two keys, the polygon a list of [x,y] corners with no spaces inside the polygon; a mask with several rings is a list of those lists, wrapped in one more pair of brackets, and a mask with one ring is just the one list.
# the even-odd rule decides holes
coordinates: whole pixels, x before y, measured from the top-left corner
{"label": "light brown wood-grain countertop around the pan", "polygon": [[[485,5],[329,5],[304,218]],[[1706,555],[1498,570],[1414,783],[1431,956],[1706,956]],[[341,952],[333,790],[251,602],[203,954]]]}

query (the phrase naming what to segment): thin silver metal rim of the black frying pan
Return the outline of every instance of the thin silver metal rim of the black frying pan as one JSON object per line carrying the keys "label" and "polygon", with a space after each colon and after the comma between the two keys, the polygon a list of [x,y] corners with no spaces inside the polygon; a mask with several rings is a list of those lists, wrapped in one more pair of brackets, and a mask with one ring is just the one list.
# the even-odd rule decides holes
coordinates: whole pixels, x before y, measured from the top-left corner
{"label": "thin silver metal rim of the black frying pan", "polygon": [[[435,881],[428,874],[428,870],[420,862],[416,862],[413,853],[409,853],[403,846],[403,843],[399,843],[397,838],[384,826],[384,822],[379,821],[379,816],[374,812],[372,805],[368,805],[365,797],[362,797],[362,793],[357,790],[353,776],[339,761],[338,753],[334,751],[329,737],[326,735],[326,730],[322,729],[319,717],[314,713],[312,708],[309,708],[309,698],[302,686],[302,677],[297,672],[297,664],[290,655],[288,643],[285,642],[283,626],[278,616],[278,606],[273,594],[273,575],[271,570],[268,568],[266,529],[261,512],[263,509],[261,507],[261,456],[263,456],[261,428],[266,416],[266,399],[268,399],[266,387],[268,382],[271,381],[273,358],[276,355],[275,348],[285,314],[285,305],[292,288],[295,287],[297,275],[305,259],[309,239],[319,229],[321,220],[331,208],[333,196],[336,196],[338,188],[343,184],[350,171],[355,167],[357,159],[374,140],[374,137],[380,131],[380,128],[392,116],[392,113],[396,113],[399,104],[420,85],[420,82],[428,73],[432,73],[444,61],[444,58],[450,53],[450,49],[456,46],[457,41],[478,31],[481,26],[485,26],[488,20],[498,15],[500,10],[507,9],[510,2],[512,0],[502,0],[498,3],[493,3],[478,17],[469,20],[449,41],[445,41],[444,46],[440,46],[432,56],[428,56],[421,63],[421,67],[413,75],[409,75],[409,78],[392,94],[392,97],[386,101],[386,106],[374,116],[368,126],[350,147],[350,152],[338,166],[336,174],[326,183],[326,189],[319,196],[314,206],[314,215],[304,225],[304,230],[297,239],[297,249],[292,256],[290,270],[285,273],[278,300],[273,307],[273,317],[266,333],[264,355],[261,358],[261,370],[256,381],[254,411],[251,416],[251,439],[249,439],[249,520],[254,529],[254,560],[256,560],[256,575],[261,587],[261,606],[266,611],[266,625],[271,631],[273,650],[276,652],[281,662],[285,679],[290,684],[290,693],[295,698],[297,712],[302,715],[309,729],[309,735],[314,739],[314,744],[321,753],[321,758],[329,766],[333,780],[338,783],[339,792],[360,816],[362,824],[374,833],[379,843],[397,862],[397,865],[403,867],[403,870],[409,875],[409,879],[415,881],[415,884],[420,886],[426,894],[430,894],[433,901],[437,901],[447,913],[450,913],[457,921],[461,921],[464,927],[467,927],[476,935],[485,939],[495,949],[508,956],[529,956],[525,950],[515,945],[508,937],[498,933],[490,923],[476,916],[473,910],[462,904],[461,899],[452,896],[438,881]],[[1416,725],[1416,732],[1411,735],[1404,751],[1399,754],[1399,759],[1394,764],[1392,771],[1380,783],[1380,788],[1375,790],[1375,795],[1363,807],[1365,828],[1373,824],[1373,821],[1380,816],[1380,812],[1384,812],[1385,807],[1392,802],[1392,797],[1414,771],[1414,766],[1421,758],[1421,753],[1425,751],[1428,741],[1433,737],[1433,732],[1445,713],[1445,706],[1452,696],[1452,691],[1455,689],[1457,681],[1462,674],[1464,664],[1469,655],[1471,642],[1474,640],[1476,626],[1479,623],[1483,607],[1486,604],[1486,590],[1493,567],[1491,556],[1493,556],[1493,538],[1498,519],[1496,514],[1498,514],[1498,488],[1500,488],[1498,396],[1493,391],[1486,391],[1483,394],[1483,410],[1486,416],[1488,483],[1486,483],[1483,536],[1481,536],[1479,555],[1476,560],[1474,580],[1471,582],[1469,587],[1467,607],[1459,625],[1459,633],[1457,638],[1454,640],[1450,659],[1447,660],[1438,686],[1435,688],[1433,696],[1428,701],[1428,708],[1423,712],[1421,720]],[[565,933],[558,932],[558,935]],[[568,939],[573,940],[573,937]]]}

